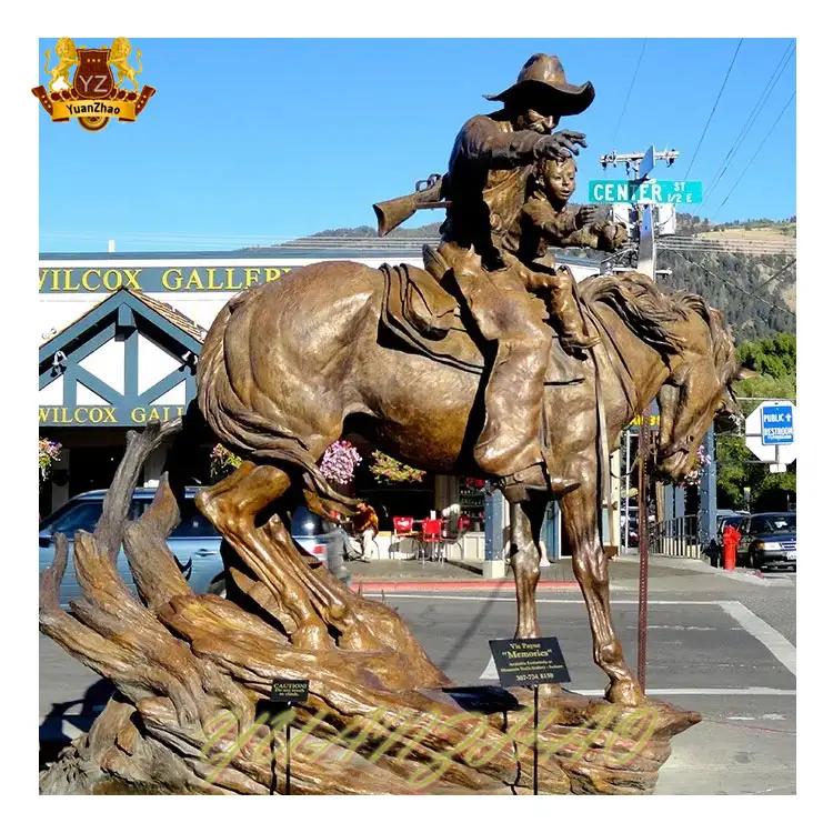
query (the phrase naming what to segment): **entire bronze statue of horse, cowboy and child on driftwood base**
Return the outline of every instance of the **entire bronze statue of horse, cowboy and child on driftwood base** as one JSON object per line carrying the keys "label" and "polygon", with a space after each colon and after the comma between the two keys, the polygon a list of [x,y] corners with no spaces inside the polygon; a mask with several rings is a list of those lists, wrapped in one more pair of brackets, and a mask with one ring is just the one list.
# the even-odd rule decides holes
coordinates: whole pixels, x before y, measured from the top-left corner
{"label": "entire bronze statue of horse, cowboy and child on driftwood base", "polygon": [[[624,661],[600,489],[608,448],[654,398],[658,472],[680,479],[697,464],[712,420],[739,413],[732,339],[696,295],[663,294],[636,272],[576,287],[549,259],[551,242],[621,243],[621,229],[566,205],[570,153],[583,137],[549,134],[560,117],[590,104],[592,86],[569,84],[558,59],[534,56],[493,98],[504,109],[466,122],[445,177],[404,203],[377,205],[385,227],[425,204],[446,208],[426,271],[317,263],[223,308],[200,355],[199,410],[184,423],[131,432],[102,520],[93,534],[78,533],[83,598],[69,613],[58,605],[68,559],[58,536],[56,561],[41,575],[41,630],[119,694],[41,776],[44,792],[114,782],[265,794],[272,772],[259,753],[270,741],[278,755],[285,747],[257,723],[255,703],[274,678],[310,680],[309,703],[289,720],[317,744],[293,746],[293,793],[529,791],[533,737],[551,743],[541,764],[545,792],[645,792],[669,739],[700,719],[645,702]],[[175,435],[169,460],[187,468],[205,428],[245,458],[197,499],[230,545],[228,599],[195,596],[165,548],[178,522],[167,474],[151,510],[127,523],[133,484],[157,445]],[[528,692],[513,690],[499,707],[468,707],[471,694],[455,696],[395,611],[353,593],[292,541],[288,522],[302,501],[325,518],[355,512],[319,468],[347,431],[420,469],[501,478],[521,638],[541,635],[540,531],[548,502],[560,496],[593,656],[616,705],[546,686],[534,735],[524,724]],[[172,480],[181,475],[174,469]],[[139,600],[114,569],[122,542]],[[646,742],[632,731],[633,706],[654,733]],[[229,732],[258,750],[230,742]],[[478,739],[480,753],[492,752],[472,754]],[[576,752],[572,739],[584,747]],[[626,760],[602,760],[601,743]]]}

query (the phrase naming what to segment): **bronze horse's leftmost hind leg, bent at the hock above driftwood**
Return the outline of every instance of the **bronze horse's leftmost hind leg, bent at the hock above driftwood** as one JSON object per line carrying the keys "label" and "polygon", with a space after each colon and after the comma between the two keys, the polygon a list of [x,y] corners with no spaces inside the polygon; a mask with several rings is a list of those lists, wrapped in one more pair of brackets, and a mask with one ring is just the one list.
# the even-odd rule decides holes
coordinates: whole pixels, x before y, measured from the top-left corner
{"label": "bronze horse's leftmost hind leg, bent at the hock above driftwood", "polygon": [[197,505],[272,591],[287,611],[281,622],[299,648],[315,650],[331,643],[327,623],[318,615],[301,582],[275,558],[264,530],[255,526],[258,512],[289,488],[289,475],[273,465],[244,462],[235,472],[197,494]]}

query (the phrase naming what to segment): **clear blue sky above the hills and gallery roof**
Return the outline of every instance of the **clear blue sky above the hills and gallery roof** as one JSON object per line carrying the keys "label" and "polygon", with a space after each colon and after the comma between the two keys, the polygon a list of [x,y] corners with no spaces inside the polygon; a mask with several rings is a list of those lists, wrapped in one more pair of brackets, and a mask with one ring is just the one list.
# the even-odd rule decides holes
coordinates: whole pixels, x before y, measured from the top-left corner
{"label": "clear blue sky above the hills and gallery roof", "polygon": [[[112,37],[73,40],[98,47]],[[703,182],[706,202],[693,213],[720,222],[795,213],[794,53],[709,188],[787,39],[744,39],[727,79],[737,38],[131,40],[140,81],[158,91],[136,123],[90,133],[40,110],[41,251],[103,251],[109,239],[119,251],[229,249],[372,225],[371,204],[442,173],[462,123],[494,109],[482,94],[509,87],[535,52],[558,54],[571,82],[596,89],[591,108],[560,126],[588,137],[576,201],[591,179],[625,178],[622,168],[602,171],[602,153],[654,142],[680,152],[658,178]],[[44,84],[47,49],[54,39],[40,41]],[[440,219],[420,212],[410,224]]]}

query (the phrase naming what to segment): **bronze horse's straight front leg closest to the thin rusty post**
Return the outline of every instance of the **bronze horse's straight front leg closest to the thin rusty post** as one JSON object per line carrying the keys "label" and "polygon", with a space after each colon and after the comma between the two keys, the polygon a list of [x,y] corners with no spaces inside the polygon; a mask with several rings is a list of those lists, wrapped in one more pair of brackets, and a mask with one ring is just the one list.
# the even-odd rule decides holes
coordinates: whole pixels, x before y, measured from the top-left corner
{"label": "bronze horse's straight front leg closest to the thin rusty post", "polygon": [[608,556],[599,538],[596,463],[595,455],[592,456],[592,460],[585,459],[581,471],[575,473],[582,485],[561,499],[561,513],[573,552],[573,572],[590,616],[593,659],[610,678],[604,695],[611,703],[638,705],[644,700],[644,693],[624,661],[622,645],[613,630]]}

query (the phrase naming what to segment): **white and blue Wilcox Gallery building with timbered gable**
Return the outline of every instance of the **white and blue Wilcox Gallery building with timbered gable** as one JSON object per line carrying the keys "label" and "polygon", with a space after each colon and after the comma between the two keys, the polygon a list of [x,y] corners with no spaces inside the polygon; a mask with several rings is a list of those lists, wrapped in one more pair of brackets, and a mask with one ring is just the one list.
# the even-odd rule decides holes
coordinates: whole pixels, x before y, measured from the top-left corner
{"label": "white and blue Wilcox Gallery building with timbered gable", "polygon": [[[422,265],[420,245],[407,240],[367,248],[353,242],[237,252],[42,254],[38,416],[41,438],[60,443],[61,455],[42,485],[41,513],[80,492],[107,488],[130,429],[184,412],[197,392],[203,339],[227,301],[248,287],[324,260]],[[579,280],[596,271],[589,261],[570,265]],[[372,451],[357,444],[362,453]],[[193,461],[200,482],[209,479],[210,451]],[[145,465],[144,484],[155,484],[163,466],[160,451]],[[482,558],[482,490],[449,475],[423,481],[383,484],[363,471],[355,489],[377,506],[383,531],[397,514],[466,514],[472,520],[466,554]],[[553,506],[551,553],[560,550],[559,526]]]}

